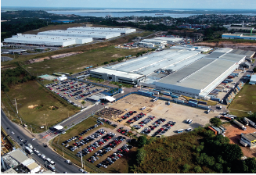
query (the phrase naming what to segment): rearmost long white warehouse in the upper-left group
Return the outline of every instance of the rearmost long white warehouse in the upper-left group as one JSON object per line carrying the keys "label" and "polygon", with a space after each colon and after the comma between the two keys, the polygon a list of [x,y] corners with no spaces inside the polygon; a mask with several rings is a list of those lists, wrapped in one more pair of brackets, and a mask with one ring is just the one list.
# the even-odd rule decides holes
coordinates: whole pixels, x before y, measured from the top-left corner
{"label": "rearmost long white warehouse in the upper-left group", "polygon": [[70,28],[67,28],[67,30],[117,32],[121,34],[130,34],[136,31],[136,29],[132,29],[132,28],[109,28],[109,27],[70,27]]}

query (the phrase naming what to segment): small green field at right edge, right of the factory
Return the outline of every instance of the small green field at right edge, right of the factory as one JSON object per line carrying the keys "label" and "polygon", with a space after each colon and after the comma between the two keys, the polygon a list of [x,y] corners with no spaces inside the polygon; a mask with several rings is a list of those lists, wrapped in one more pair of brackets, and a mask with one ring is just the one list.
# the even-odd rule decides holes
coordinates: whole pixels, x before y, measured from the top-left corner
{"label": "small green field at right edge, right of the factory", "polygon": [[256,112],[256,86],[245,84],[229,105],[229,110],[235,116],[248,116],[248,111]]}

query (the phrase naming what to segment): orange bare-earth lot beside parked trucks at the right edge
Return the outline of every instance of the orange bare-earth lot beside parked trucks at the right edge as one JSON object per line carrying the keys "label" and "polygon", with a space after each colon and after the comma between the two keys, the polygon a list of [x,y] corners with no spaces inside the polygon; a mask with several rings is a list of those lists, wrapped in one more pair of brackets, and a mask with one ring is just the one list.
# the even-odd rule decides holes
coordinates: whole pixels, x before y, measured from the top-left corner
{"label": "orange bare-earth lot beside parked trucks at the right edge", "polygon": [[237,127],[234,124],[229,126],[224,125],[224,127],[227,129],[225,131],[225,137],[229,137],[230,143],[239,145],[243,151],[243,155],[247,157],[256,157],[256,148],[251,149],[249,147],[244,147],[240,144],[241,133],[248,134],[256,132],[256,129],[254,127],[247,126],[247,130],[242,130],[240,129],[240,127]]}

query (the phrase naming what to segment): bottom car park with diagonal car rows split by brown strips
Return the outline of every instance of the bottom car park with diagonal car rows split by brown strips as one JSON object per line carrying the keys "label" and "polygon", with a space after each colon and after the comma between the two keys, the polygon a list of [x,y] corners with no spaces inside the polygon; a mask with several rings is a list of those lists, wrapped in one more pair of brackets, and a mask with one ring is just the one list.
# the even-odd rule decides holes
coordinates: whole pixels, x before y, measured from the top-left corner
{"label": "bottom car park with diagonal car rows split by brown strips", "polygon": [[118,159],[132,148],[127,145],[127,139],[128,137],[118,133],[116,129],[111,130],[96,124],[67,138],[61,145],[79,158],[82,156],[85,161],[105,170],[117,166]]}

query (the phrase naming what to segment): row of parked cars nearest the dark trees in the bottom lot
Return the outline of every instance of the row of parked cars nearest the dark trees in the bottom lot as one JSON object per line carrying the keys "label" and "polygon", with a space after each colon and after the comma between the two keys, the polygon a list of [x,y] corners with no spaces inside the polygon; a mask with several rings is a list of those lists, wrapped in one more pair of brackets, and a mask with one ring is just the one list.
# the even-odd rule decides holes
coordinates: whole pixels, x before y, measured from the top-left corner
{"label": "row of parked cars nearest the dark trees in the bottom lot", "polygon": [[103,162],[100,162],[96,165],[98,168],[103,167],[107,168],[107,166],[112,165],[117,159],[120,159],[126,152],[128,152],[132,148],[131,145],[123,145],[121,148],[114,152],[112,155],[108,156]]}

